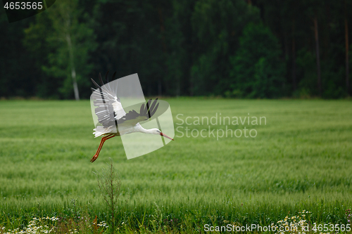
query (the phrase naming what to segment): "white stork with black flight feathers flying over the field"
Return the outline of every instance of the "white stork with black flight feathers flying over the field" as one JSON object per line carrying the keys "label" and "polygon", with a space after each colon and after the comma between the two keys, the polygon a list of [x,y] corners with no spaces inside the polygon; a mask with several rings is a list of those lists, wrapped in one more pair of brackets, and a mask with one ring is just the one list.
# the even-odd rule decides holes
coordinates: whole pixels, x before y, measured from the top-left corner
{"label": "white stork with black flight feathers flying over the field", "polygon": [[[115,78],[116,72],[113,74],[113,79]],[[117,93],[113,91],[108,85],[108,72],[106,72],[106,85],[103,84],[103,79],[101,79],[101,74],[99,73],[99,84],[96,84],[94,79],[92,82],[96,86],[96,89],[92,88],[93,98],[95,108],[95,113],[98,116],[99,123],[102,126],[96,126],[94,130],[95,137],[103,136],[98,150],[96,150],[95,155],[92,157],[90,162],[94,162],[98,156],[103,143],[113,138],[114,136],[122,136],[125,134],[132,134],[134,132],[141,132],[144,134],[154,134],[164,136],[174,141],[174,139],[163,134],[159,129],[144,129],[144,127],[139,124],[147,119],[150,119],[158,109],[159,103],[157,103],[158,98],[151,103],[151,99],[148,100],[146,105],[142,104],[139,113],[135,110],[131,110],[126,113],[123,110],[120,98],[118,98]]]}

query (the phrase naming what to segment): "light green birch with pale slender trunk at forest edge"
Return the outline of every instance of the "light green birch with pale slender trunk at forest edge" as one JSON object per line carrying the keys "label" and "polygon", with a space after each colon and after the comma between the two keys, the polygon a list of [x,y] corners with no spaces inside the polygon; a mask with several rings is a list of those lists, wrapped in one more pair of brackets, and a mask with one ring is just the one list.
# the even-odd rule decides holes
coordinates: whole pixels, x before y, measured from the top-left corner
{"label": "light green birch with pale slender trunk at forest edge", "polygon": [[93,67],[89,53],[96,48],[88,17],[78,6],[78,0],[60,1],[46,15],[37,15],[36,23],[25,30],[27,47],[46,44],[47,63],[42,65],[42,70],[56,80],[60,96],[71,98],[73,91],[76,100],[80,99],[80,86],[89,89],[87,77]]}

